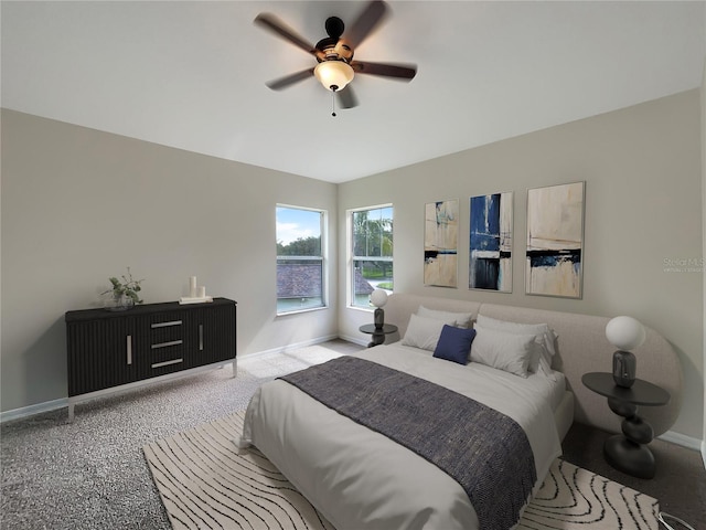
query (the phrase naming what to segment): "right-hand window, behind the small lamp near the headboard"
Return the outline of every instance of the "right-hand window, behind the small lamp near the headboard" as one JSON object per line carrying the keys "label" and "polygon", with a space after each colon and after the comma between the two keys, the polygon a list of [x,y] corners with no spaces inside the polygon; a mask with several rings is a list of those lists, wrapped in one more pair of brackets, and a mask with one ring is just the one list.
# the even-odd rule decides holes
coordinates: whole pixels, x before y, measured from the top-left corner
{"label": "right-hand window, behind the small lamp near the headboard", "polygon": [[393,206],[350,212],[351,305],[371,307],[374,289],[393,290]]}

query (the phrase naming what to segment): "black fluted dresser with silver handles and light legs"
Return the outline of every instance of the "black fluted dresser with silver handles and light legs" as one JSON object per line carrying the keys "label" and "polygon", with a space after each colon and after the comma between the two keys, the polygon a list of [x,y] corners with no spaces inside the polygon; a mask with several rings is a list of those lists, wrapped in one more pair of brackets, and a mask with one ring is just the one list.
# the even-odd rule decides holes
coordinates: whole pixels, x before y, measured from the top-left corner
{"label": "black fluted dresser with silver handles and light legs", "polygon": [[[74,405],[159,378],[236,364],[236,303],[146,304],[68,311],[68,417]],[[182,373],[183,372],[183,373]]]}

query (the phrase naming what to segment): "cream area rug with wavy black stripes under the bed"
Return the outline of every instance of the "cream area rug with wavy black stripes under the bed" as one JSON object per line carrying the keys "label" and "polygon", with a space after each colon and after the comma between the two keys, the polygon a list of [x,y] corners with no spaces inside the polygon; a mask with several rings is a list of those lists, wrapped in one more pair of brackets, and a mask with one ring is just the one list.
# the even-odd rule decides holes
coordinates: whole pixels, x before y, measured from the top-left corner
{"label": "cream area rug with wavy black stripes under the bed", "polygon": [[[143,447],[174,530],[335,530],[261,453],[237,453],[243,416]],[[659,530],[657,511],[652,497],[557,459],[516,528]]]}

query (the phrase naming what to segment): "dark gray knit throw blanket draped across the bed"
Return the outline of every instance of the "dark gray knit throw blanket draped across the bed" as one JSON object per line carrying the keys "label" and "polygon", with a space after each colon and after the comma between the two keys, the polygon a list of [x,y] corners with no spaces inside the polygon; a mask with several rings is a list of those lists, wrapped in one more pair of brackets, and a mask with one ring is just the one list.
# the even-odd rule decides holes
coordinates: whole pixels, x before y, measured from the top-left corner
{"label": "dark gray knit throw blanket draped across the bed", "polygon": [[537,479],[522,427],[470,398],[356,357],[282,378],[361,425],[415,452],[457,480],[481,530],[520,520]]}

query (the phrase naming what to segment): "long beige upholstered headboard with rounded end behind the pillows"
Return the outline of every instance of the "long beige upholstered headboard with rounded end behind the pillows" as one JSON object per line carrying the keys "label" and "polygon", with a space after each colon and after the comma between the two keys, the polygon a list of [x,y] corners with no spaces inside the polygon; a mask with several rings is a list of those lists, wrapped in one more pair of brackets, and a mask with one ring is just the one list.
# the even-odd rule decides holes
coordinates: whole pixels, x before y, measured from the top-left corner
{"label": "long beige upholstered headboard with rounded end behind the pillows", "polygon": [[[501,320],[524,324],[547,324],[558,335],[557,356],[553,368],[566,374],[569,390],[575,396],[575,421],[619,433],[621,417],[613,414],[602,398],[581,383],[587,372],[610,372],[614,347],[606,339],[608,317],[547,311],[500,304],[451,300],[407,294],[392,295],[385,305],[385,321],[399,328],[387,342],[405,335],[409,316],[419,306],[458,312],[479,314]],[[641,406],[639,414],[645,417],[654,434],[666,432],[675,422],[682,407],[682,368],[672,346],[656,331],[645,327],[646,340],[634,350],[638,358],[638,378],[665,389],[671,394],[664,406]]]}

